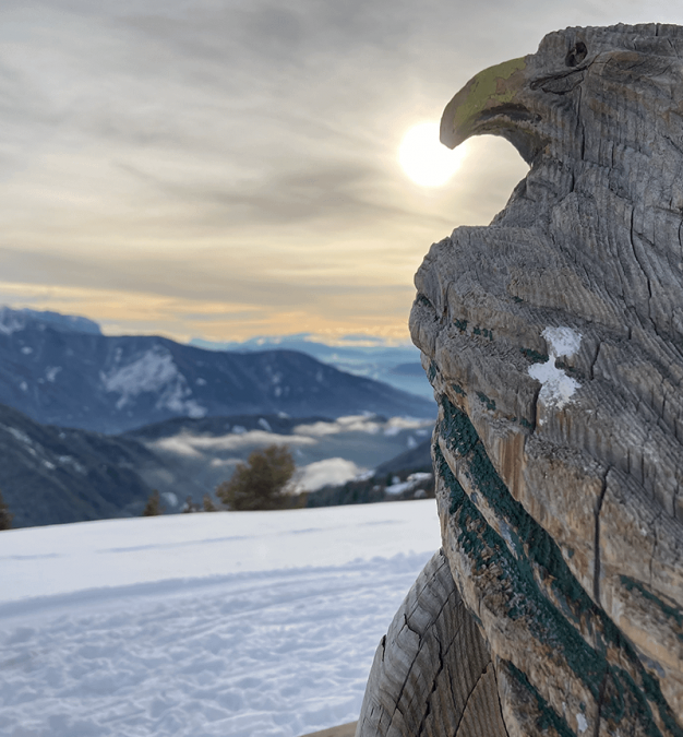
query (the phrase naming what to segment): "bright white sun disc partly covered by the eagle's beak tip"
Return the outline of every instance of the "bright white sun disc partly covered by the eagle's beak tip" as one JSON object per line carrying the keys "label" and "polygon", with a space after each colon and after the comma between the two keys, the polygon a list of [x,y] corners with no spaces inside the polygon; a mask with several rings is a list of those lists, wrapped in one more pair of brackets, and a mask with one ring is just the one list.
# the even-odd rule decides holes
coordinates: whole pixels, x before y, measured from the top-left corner
{"label": "bright white sun disc partly covered by the eagle's beak tip", "polygon": [[416,185],[441,187],[458,170],[465,150],[446,148],[439,141],[439,123],[423,122],[414,126],[405,135],[398,150],[398,161],[404,171]]}

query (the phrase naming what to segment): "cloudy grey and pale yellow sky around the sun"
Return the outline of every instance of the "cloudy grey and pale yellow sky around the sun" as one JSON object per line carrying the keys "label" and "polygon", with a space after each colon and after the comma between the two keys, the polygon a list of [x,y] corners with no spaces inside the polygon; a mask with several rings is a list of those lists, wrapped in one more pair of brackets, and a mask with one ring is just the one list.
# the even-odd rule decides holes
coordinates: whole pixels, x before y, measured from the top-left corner
{"label": "cloudy grey and pale yellow sky around the sun", "polygon": [[527,167],[468,141],[423,187],[407,131],[551,31],[679,0],[3,0],[0,304],[180,341],[407,342],[432,242]]}

